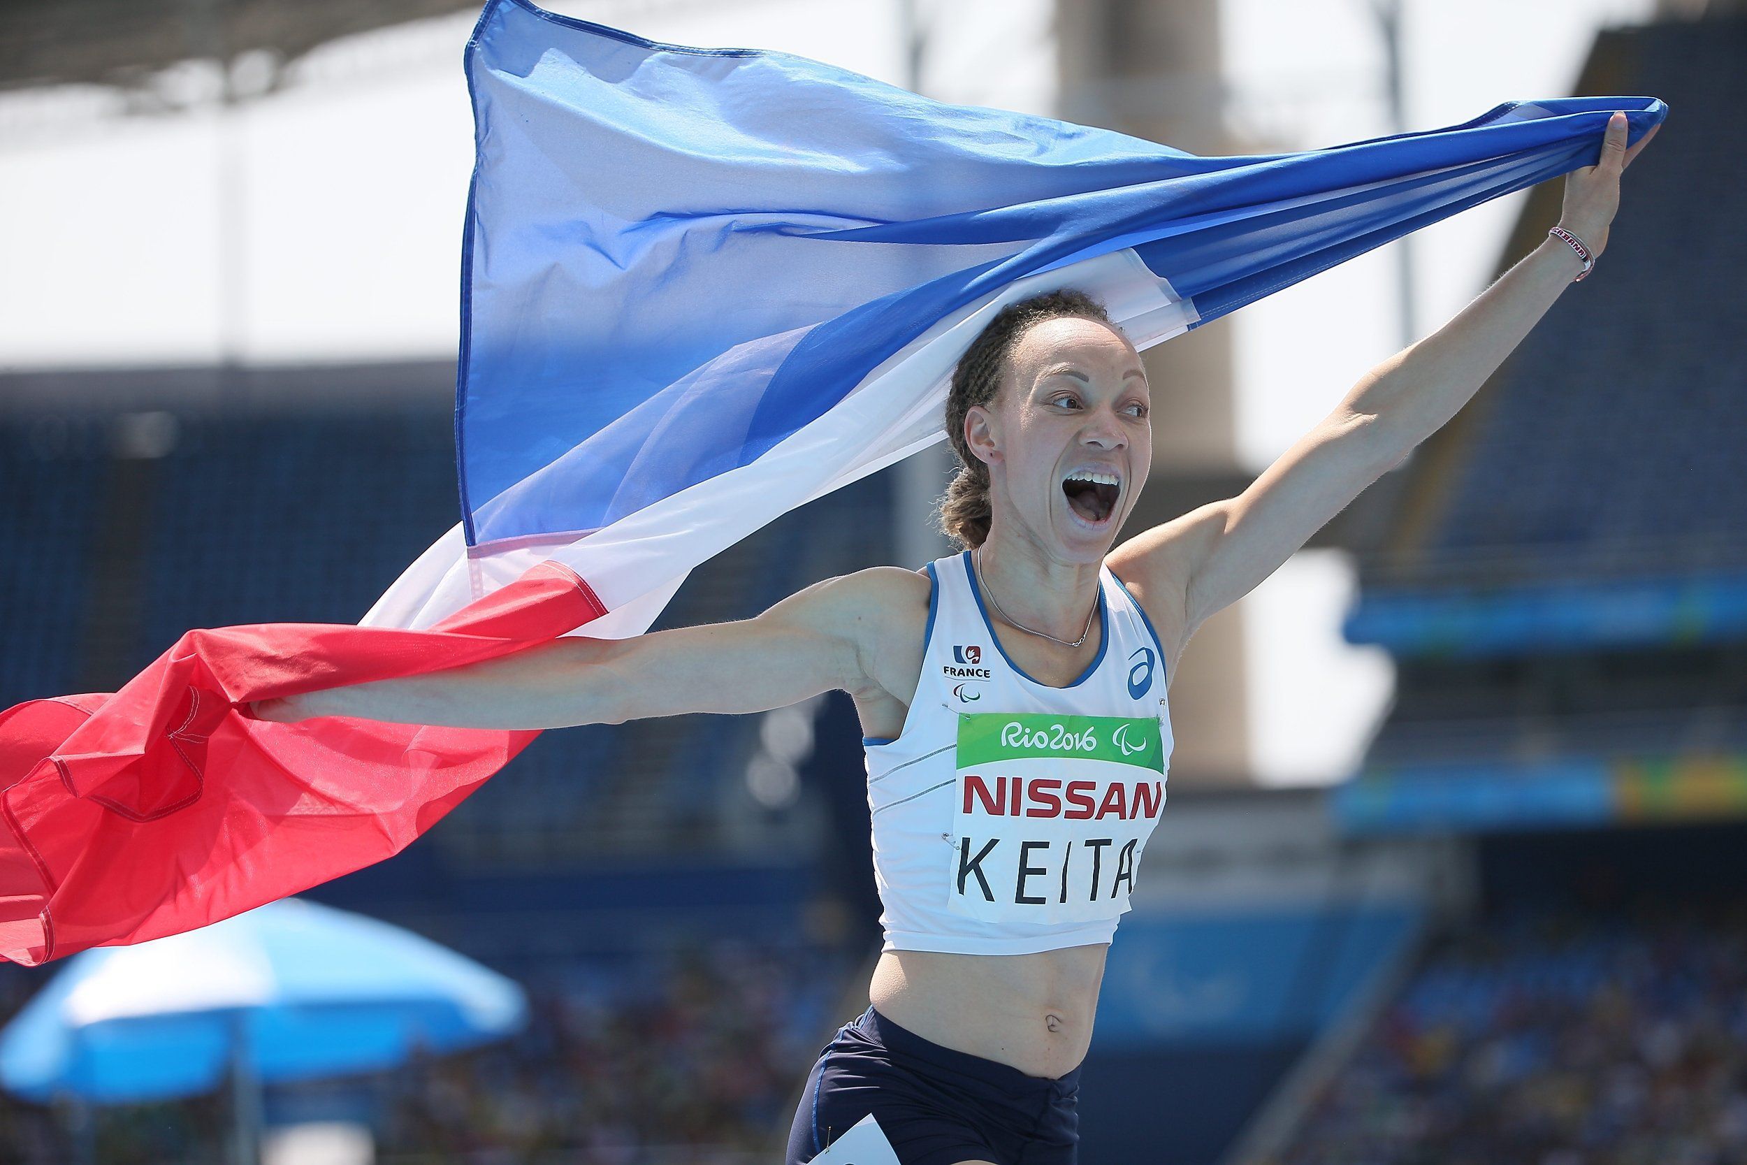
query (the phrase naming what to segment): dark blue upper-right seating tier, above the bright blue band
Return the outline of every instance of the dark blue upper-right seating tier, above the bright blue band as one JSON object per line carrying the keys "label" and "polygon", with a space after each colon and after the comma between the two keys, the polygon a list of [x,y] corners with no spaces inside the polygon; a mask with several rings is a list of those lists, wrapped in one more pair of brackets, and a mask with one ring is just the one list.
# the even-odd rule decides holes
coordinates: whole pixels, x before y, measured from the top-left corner
{"label": "dark blue upper-right seating tier, above the bright blue band", "polygon": [[[1614,30],[1599,45],[1578,91],[1605,73],[1663,98],[1668,124],[1623,178],[1597,274],[1567,288],[1429,442],[1434,456],[1403,470],[1410,508],[1429,517],[1398,527],[1373,582],[1747,569],[1742,52],[1740,17]],[[1536,196],[1506,262],[1551,225],[1555,187]]]}

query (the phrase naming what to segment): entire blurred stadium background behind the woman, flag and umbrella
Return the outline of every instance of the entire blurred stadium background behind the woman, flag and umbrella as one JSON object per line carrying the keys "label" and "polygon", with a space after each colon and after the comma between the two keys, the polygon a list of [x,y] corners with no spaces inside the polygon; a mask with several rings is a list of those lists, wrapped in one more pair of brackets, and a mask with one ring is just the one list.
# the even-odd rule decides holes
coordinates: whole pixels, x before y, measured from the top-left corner
{"label": "entire blurred stadium background behind the woman, flag and umbrella", "polygon": [[[1081,1162],[1747,1162],[1747,12],[1654,0],[599,0],[1197,154],[1651,94],[1597,276],[1172,686]],[[472,134],[449,0],[0,9],[0,707],[189,627],[356,622],[456,519]],[[222,65],[220,65],[222,63]],[[1148,353],[1134,531],[1237,493],[1557,222],[1560,183]],[[1350,328],[1310,328],[1343,302]],[[765,527],[659,627],[945,552],[942,458]],[[749,1165],[867,1006],[854,711],[545,734],[309,898],[517,978],[508,1043],[266,1095],[267,1160]],[[0,966],[14,1013],[56,964]],[[227,1099],[0,1099],[0,1162],[224,1160]],[[299,1132],[349,1128],[316,1141]]]}

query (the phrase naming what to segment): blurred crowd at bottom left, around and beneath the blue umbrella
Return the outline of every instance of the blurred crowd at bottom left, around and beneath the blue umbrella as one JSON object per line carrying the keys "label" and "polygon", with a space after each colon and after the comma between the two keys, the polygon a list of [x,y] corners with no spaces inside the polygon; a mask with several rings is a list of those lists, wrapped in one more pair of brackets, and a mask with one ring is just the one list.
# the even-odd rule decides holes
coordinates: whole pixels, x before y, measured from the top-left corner
{"label": "blurred crowd at bottom left, around and beneath the blue umbrella", "polygon": [[[10,1017],[44,980],[0,975]],[[844,1006],[854,966],[816,947],[715,940],[524,978],[515,1037],[393,1072],[330,1081],[372,1114],[381,1165],[749,1165],[777,1160],[805,1074]],[[269,1092],[290,1097],[304,1086]],[[224,1162],[224,1092],[105,1107],[103,1165]],[[0,1100],[0,1160],[73,1162],[68,1113]]]}

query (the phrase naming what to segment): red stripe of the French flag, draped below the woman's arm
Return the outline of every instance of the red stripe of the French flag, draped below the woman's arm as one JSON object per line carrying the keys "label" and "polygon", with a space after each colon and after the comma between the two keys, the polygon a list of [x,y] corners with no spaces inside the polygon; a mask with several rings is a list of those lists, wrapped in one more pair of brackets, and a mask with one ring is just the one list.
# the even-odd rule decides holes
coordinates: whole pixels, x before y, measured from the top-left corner
{"label": "red stripe of the French flag, draped below the woman's arm", "polygon": [[241,706],[498,658],[604,613],[549,561],[428,631],[190,631],[121,692],[0,713],[0,957],[178,934],[400,852],[540,732]]}

